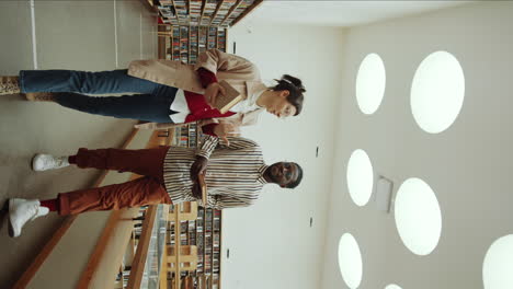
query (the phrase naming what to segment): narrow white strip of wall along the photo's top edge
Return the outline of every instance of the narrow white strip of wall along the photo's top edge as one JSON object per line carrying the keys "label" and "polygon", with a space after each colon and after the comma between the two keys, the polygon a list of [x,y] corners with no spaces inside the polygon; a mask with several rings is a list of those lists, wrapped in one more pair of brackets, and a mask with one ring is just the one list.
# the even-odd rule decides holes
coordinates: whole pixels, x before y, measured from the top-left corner
{"label": "narrow white strip of wall along the photo's top edge", "polygon": [[265,0],[244,21],[353,26],[461,4],[468,1],[280,1]]}

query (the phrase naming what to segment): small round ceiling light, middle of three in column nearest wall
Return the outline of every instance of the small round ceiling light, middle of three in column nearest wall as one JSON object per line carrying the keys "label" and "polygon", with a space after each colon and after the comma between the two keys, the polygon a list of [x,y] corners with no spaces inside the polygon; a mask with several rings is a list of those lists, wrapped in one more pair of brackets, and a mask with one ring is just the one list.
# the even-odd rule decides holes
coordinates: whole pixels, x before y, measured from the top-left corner
{"label": "small round ceiling light, middle of three in column nearest wall", "polygon": [[371,199],[374,185],[374,171],[371,159],[364,150],[353,151],[347,163],[347,188],[357,206],[364,206]]}

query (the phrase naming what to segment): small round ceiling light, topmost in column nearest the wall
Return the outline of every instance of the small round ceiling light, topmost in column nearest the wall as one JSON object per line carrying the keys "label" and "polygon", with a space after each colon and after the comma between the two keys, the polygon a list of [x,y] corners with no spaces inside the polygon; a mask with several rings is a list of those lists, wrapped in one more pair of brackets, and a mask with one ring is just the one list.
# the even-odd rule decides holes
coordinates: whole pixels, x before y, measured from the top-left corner
{"label": "small round ceiling light, topmost in column nearest the wall", "polygon": [[385,65],[377,54],[367,55],[356,76],[356,101],[364,114],[374,114],[385,94]]}

